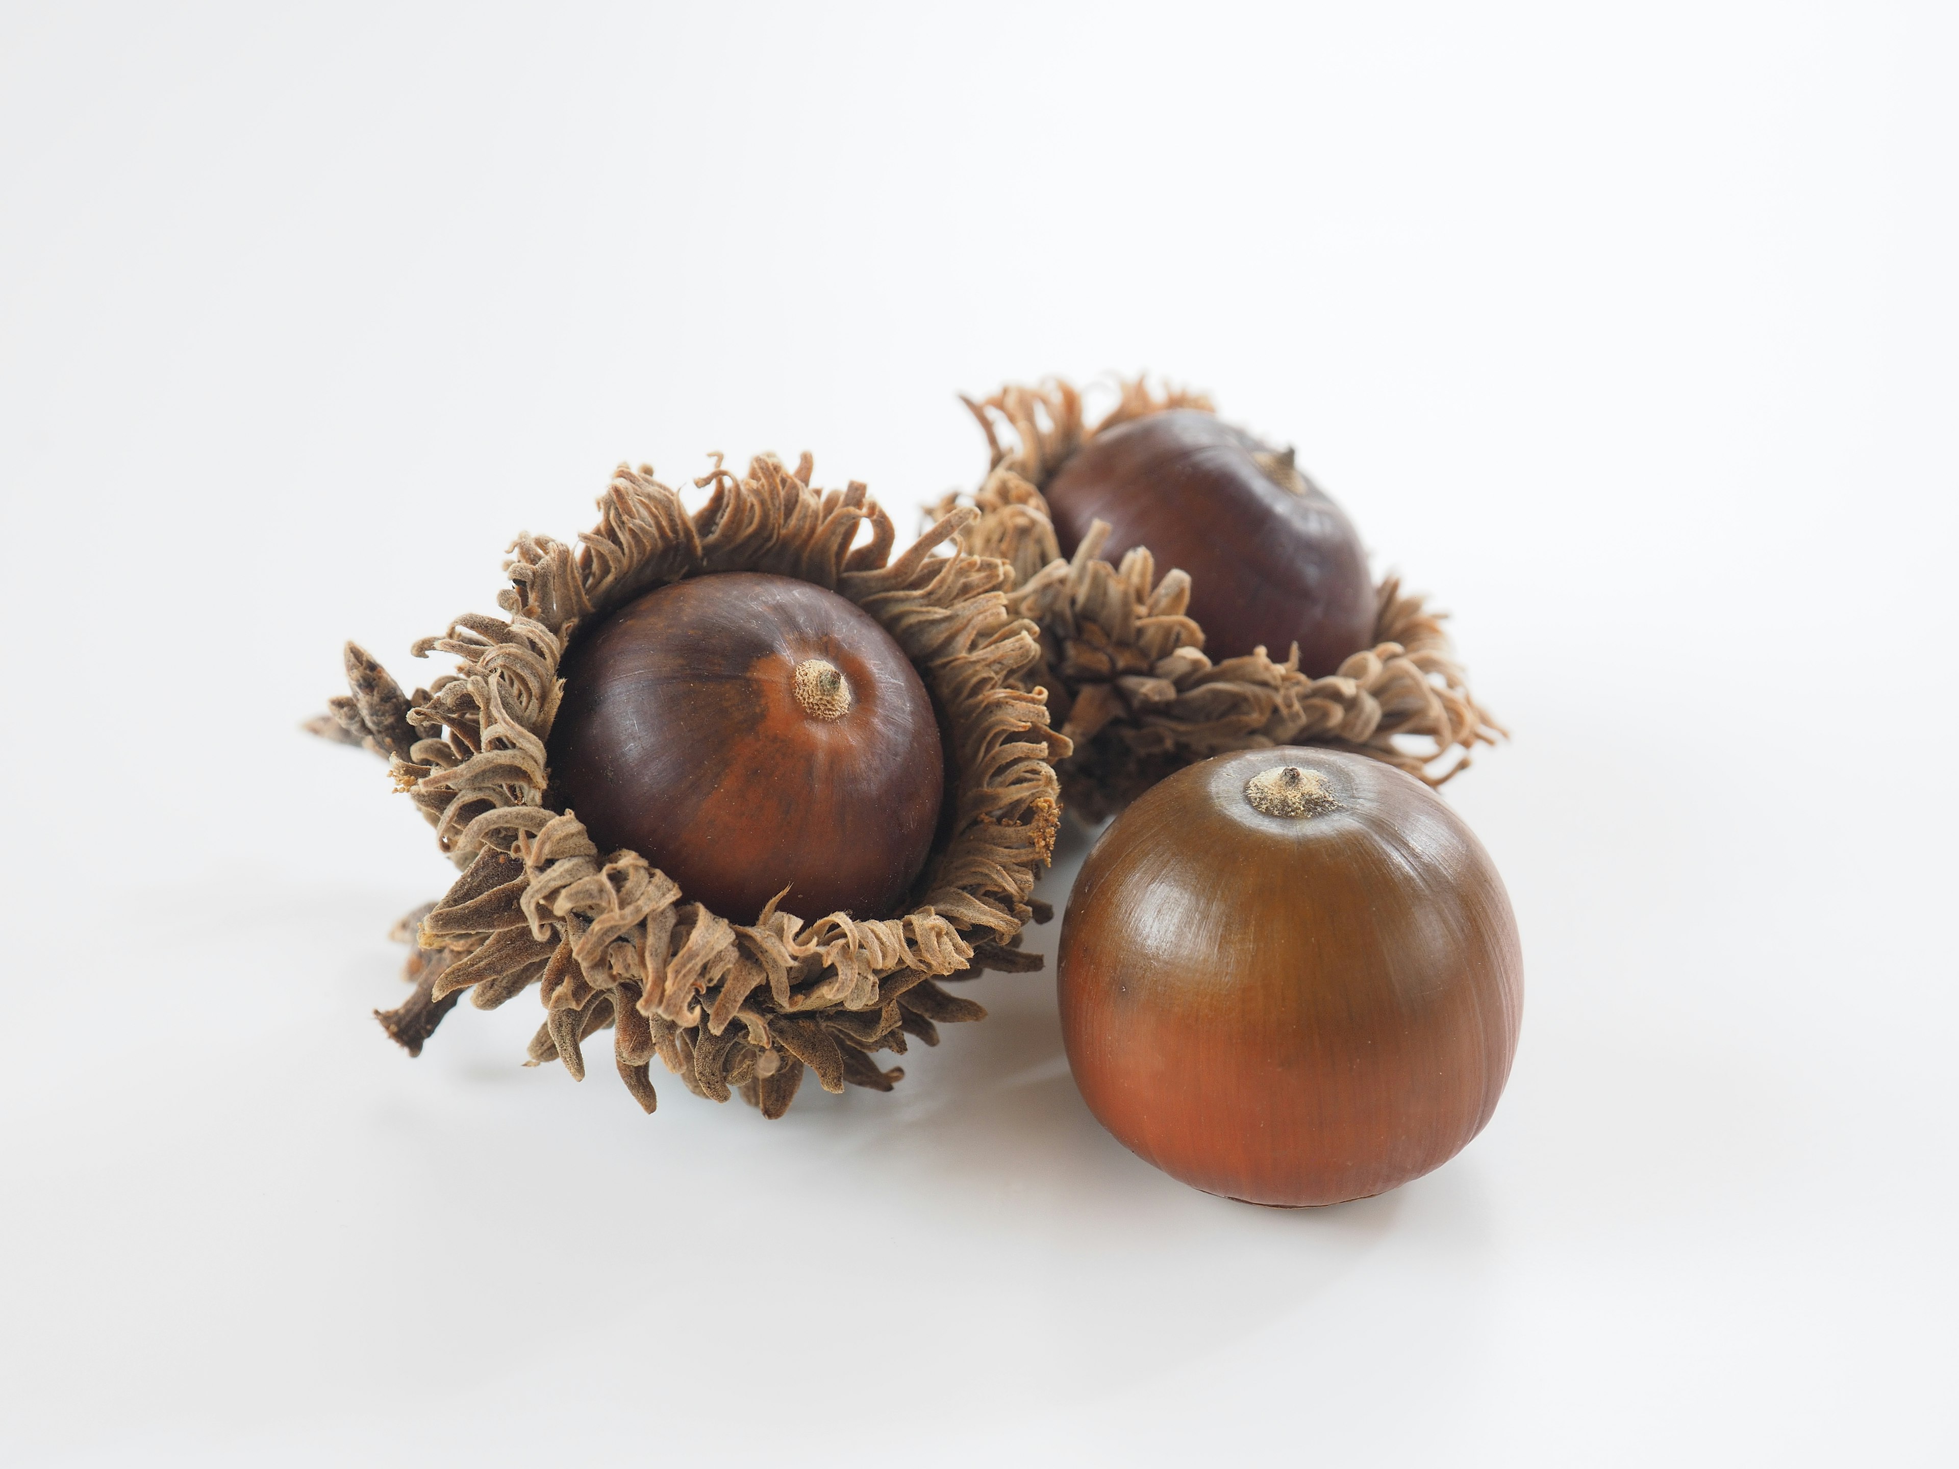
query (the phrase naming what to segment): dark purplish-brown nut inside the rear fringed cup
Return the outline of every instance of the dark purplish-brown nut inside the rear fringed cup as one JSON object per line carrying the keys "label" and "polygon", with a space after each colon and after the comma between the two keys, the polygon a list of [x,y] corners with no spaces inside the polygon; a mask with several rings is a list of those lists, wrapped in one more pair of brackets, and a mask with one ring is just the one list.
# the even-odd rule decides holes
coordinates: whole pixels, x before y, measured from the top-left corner
{"label": "dark purplish-brown nut inside the rear fringed cup", "polygon": [[1254,458],[1267,445],[1215,413],[1175,407],[1097,433],[1042,494],[1062,554],[1097,519],[1103,556],[1148,546],[1158,570],[1191,576],[1189,613],[1213,662],[1264,646],[1332,674],[1373,644],[1373,582],[1346,513],[1311,480],[1275,482]]}

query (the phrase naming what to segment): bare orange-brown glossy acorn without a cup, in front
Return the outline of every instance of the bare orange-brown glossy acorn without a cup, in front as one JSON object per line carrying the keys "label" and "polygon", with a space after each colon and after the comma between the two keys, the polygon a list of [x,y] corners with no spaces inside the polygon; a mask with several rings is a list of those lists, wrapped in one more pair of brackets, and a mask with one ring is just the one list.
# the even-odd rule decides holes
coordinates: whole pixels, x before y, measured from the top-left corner
{"label": "bare orange-brown glossy acorn without a cup, in front", "polygon": [[[1262,815],[1299,766],[1340,809]],[[1068,1062],[1124,1146],[1207,1193],[1332,1205],[1454,1158],[1510,1073],[1524,973],[1489,854],[1426,785],[1318,748],[1146,791],[1089,852],[1060,944]]]}

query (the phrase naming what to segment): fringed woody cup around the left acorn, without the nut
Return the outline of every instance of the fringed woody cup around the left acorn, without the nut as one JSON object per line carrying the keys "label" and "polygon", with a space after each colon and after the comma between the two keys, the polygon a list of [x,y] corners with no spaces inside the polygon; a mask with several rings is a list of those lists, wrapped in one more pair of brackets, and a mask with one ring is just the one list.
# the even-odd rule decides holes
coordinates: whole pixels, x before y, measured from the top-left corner
{"label": "fringed woody cup around the left acorn, without the nut", "polygon": [[[827,1091],[889,1091],[903,1071],[882,1069],[878,1052],[903,1054],[907,1036],[936,1044],[938,1022],[983,1019],[940,979],[1042,966],[1021,952],[1021,930],[1052,917],[1032,887],[1054,846],[1052,760],[1068,740],[1050,731],[1046,693],[1030,680],[1040,644],[1007,607],[1011,574],[954,541],[974,509],[946,513],[891,558],[891,521],[864,486],[823,492],[809,476],[807,454],[793,472],[758,458],[741,478],[717,458],[695,480],[713,494],[690,513],[650,468],[621,466],[576,552],[547,537],[513,543],[503,617],[458,617],[415,644],[415,656],[456,656],[456,674],[407,695],[347,646],[351,693],[315,733],[386,756],[462,868],[398,932],[415,946],[404,975],[415,993],[380,1020],[411,1054],[462,991],[494,1009],[535,983],[547,1019],[531,1064],[556,1058],[584,1077],[582,1042],[613,1028],[619,1075],[648,1113],[658,1058],[701,1097],[739,1091],[780,1116],[805,1067]],[[934,554],[946,543],[950,554]],[[946,734],[946,811],[897,917],[805,921],[772,901],[754,923],[733,923],[641,854],[601,852],[574,811],[552,807],[547,738],[564,693],[558,664],[580,629],[654,588],[719,572],[842,595],[931,689]],[[846,713],[825,668],[797,680],[817,717]]]}

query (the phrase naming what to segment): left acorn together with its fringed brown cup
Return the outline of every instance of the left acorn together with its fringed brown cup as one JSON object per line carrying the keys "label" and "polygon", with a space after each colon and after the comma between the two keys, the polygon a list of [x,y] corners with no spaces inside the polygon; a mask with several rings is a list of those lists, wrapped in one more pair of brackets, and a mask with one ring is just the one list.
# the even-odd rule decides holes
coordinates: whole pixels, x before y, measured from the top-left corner
{"label": "left acorn together with its fringed brown cup", "polygon": [[507,617],[415,644],[456,674],[406,695],[347,646],[353,691],[311,729],[386,756],[462,868],[398,926],[415,993],[376,1015],[411,1056],[462,991],[494,1009],[535,983],[529,1064],[584,1077],[611,1026],[648,1113],[658,1056],[774,1118],[805,1067],[889,1091],[878,1052],[985,1017],[940,979],[1042,966],[1021,930],[1052,917],[1032,889],[1068,740],[1038,629],[1007,566],[954,541],[978,511],[891,560],[864,486],[809,474],[717,458],[690,515],[621,466],[580,550],[515,541]]}

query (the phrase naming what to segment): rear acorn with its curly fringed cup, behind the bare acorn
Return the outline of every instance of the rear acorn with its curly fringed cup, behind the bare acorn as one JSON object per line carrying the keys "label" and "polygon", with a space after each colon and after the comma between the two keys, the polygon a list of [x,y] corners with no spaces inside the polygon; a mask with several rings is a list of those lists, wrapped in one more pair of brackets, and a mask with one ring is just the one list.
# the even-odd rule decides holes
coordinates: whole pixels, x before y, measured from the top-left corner
{"label": "rear acorn with its curly fringed cup, behind the bare acorn", "polygon": [[[1440,785],[1503,734],[1463,684],[1444,613],[1393,576],[1369,584],[1352,525],[1293,450],[1140,380],[1093,425],[1060,380],[966,405],[991,466],[936,513],[981,511],[966,546],[1013,568],[1007,605],[1040,627],[1034,678],[1074,746],[1068,809],[1099,821],[1183,766],[1273,744],[1352,750]],[[1158,558],[1187,570],[1158,580]]]}

